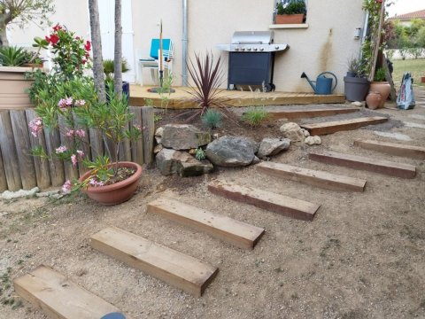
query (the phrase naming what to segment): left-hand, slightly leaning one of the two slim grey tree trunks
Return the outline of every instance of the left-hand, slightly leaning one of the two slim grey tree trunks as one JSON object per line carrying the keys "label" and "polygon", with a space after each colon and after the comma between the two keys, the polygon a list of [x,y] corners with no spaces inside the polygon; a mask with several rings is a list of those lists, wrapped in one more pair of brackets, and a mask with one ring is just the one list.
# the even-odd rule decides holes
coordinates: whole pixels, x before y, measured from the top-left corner
{"label": "left-hand, slightly leaning one of the two slim grey tree trunks", "polygon": [[91,44],[93,48],[93,77],[97,96],[102,103],[106,102],[104,89],[104,64],[102,59],[102,40],[100,35],[99,9],[97,0],[89,0]]}

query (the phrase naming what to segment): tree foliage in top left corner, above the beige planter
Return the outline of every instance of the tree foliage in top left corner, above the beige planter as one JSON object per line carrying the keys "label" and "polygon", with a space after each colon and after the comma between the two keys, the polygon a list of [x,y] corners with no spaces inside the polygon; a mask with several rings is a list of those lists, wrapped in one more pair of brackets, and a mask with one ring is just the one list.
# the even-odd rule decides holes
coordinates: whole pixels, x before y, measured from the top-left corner
{"label": "tree foliage in top left corner, above the beige planter", "polygon": [[6,27],[16,23],[24,27],[29,22],[42,25],[55,12],[53,0],[0,0],[0,46],[7,46]]}

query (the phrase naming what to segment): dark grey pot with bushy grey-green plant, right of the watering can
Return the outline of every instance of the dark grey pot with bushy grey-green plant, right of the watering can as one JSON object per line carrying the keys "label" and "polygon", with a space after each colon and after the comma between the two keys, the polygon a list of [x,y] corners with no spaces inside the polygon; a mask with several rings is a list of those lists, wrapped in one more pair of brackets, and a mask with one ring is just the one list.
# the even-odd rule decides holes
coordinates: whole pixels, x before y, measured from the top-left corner
{"label": "dark grey pot with bushy grey-green plant, right of the watering can", "polygon": [[364,73],[364,63],[359,58],[350,58],[348,71],[344,76],[344,94],[348,101],[364,101],[370,82]]}

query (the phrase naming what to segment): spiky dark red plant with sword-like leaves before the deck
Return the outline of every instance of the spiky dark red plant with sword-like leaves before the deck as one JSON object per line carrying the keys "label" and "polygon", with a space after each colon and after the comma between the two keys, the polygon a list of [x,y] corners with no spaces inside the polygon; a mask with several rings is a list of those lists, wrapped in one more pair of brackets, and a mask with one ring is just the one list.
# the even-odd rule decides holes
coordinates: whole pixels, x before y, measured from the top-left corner
{"label": "spiky dark red plant with sword-like leaves before the deck", "polygon": [[[201,107],[200,115],[208,107],[224,106],[224,97],[220,94],[220,84],[223,82],[224,73],[221,69],[221,58],[214,61],[213,54],[206,52],[205,58],[195,54],[195,62],[189,59],[188,70],[194,85],[189,85],[189,94]],[[197,113],[194,115],[196,116]]]}

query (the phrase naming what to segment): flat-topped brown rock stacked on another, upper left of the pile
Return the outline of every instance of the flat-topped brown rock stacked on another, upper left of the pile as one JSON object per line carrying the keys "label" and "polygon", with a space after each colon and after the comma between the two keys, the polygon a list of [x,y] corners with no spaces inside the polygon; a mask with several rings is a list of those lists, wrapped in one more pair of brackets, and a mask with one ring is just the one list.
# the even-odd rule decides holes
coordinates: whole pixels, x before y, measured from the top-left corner
{"label": "flat-topped brown rock stacked on another, upper left of the pile", "polygon": [[161,144],[174,150],[189,150],[211,142],[211,134],[188,124],[166,124]]}

